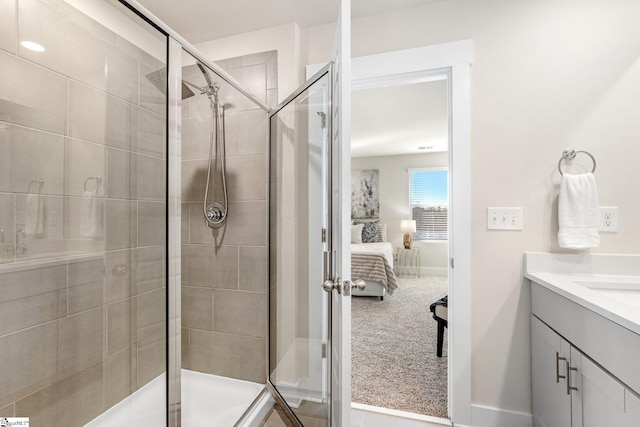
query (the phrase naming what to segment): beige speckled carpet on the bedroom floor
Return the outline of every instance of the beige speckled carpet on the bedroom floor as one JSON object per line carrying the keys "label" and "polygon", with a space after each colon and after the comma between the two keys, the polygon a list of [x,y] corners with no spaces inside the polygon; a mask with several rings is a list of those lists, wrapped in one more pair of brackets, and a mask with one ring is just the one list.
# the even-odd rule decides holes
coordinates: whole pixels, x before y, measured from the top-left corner
{"label": "beige speckled carpet on the bedroom floor", "polygon": [[439,358],[429,311],[446,294],[446,277],[399,277],[383,301],[351,299],[353,402],[447,417],[447,329]]}

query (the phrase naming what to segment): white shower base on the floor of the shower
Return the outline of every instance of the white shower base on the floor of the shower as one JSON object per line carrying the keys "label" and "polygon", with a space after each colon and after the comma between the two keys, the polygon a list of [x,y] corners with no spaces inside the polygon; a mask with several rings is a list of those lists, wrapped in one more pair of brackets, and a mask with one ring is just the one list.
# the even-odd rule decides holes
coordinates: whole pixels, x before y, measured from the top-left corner
{"label": "white shower base on the floor of the shower", "polygon": [[[182,370],[182,425],[232,427],[264,388],[263,384]],[[166,376],[160,375],[111,407],[89,427],[166,424]]]}

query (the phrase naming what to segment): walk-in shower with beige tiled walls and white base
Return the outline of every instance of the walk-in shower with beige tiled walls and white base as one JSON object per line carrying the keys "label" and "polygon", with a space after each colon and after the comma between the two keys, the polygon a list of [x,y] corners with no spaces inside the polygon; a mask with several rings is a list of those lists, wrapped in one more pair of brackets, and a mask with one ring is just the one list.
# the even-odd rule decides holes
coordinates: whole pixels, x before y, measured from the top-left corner
{"label": "walk-in shower with beige tiled walls and white base", "polygon": [[260,399],[276,53],[176,38],[117,1],[0,2],[2,417],[231,426]]}

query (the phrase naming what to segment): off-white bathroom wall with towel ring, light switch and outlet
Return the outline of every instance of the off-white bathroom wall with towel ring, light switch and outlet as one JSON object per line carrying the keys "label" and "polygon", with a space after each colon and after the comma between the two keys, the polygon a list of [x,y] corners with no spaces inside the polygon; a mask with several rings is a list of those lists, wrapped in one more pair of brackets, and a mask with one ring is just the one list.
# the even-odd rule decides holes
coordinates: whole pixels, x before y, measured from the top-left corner
{"label": "off-white bathroom wall with towel ring, light switch and outlet", "polygon": [[[563,149],[595,156],[600,205],[619,207],[619,232],[602,234],[592,252],[640,252],[640,178],[631,172],[640,158],[640,122],[633,119],[640,100],[639,15],[635,0],[448,0],[353,21],[354,56],[474,43],[475,409],[521,412],[525,423],[531,413],[530,290],[522,256],[561,251],[557,163]],[[332,33],[333,26],[305,30],[308,63],[329,58]],[[590,167],[585,162],[583,170]],[[489,206],[522,206],[523,231],[488,231]]]}

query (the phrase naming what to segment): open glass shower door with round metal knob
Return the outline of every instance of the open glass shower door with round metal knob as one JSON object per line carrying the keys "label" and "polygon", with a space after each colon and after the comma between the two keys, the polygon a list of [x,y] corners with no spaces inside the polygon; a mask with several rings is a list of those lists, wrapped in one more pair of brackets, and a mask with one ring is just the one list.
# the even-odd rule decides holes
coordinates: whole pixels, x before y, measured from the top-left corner
{"label": "open glass shower door with round metal knob", "polygon": [[303,425],[328,425],[328,67],[270,117],[269,382]]}

